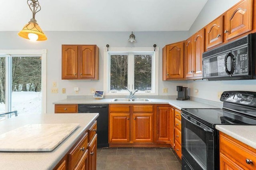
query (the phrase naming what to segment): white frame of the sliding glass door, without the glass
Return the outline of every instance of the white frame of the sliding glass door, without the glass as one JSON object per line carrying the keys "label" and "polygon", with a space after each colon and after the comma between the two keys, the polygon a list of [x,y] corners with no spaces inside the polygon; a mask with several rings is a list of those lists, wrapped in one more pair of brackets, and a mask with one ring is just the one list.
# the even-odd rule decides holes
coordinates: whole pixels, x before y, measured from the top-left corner
{"label": "white frame of the sliding glass door, without the glass", "polygon": [[[35,57],[35,56],[40,56],[42,57],[42,68],[41,68],[41,91],[42,91],[42,111],[41,113],[46,113],[46,53],[47,50],[46,49],[10,49],[10,50],[4,50],[1,49],[0,50],[0,55],[3,57],[6,57],[6,67],[10,67],[11,65],[11,57]],[[10,70],[10,69],[9,69]],[[8,71],[6,71],[6,74],[10,74],[8,73]],[[8,75],[6,75],[6,77],[8,77]],[[11,81],[11,80],[8,80]],[[10,102],[10,99],[8,98],[8,96],[10,95],[10,85],[11,82],[6,81],[6,94],[8,93],[8,95],[6,95],[6,101],[8,101],[8,103]],[[6,110],[7,111],[11,111],[10,106],[8,105],[8,103],[6,104]]]}

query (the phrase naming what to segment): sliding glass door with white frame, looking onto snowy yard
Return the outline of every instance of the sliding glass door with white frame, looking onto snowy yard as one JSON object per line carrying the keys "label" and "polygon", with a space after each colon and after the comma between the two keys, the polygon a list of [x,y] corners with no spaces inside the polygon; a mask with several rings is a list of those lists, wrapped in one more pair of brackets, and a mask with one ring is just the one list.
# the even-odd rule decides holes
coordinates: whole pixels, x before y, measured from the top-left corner
{"label": "sliding glass door with white frame, looking onto snowy yard", "polygon": [[0,50],[0,113],[45,113],[46,50],[18,51]]}

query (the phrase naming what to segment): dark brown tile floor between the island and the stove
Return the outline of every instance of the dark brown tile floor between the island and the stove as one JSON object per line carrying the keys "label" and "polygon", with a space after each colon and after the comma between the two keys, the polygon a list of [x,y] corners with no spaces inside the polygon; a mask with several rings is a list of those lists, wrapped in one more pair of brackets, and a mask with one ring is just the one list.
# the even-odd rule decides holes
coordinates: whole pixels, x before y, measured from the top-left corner
{"label": "dark brown tile floor between the island and the stove", "polygon": [[171,148],[97,148],[97,170],[181,170]]}

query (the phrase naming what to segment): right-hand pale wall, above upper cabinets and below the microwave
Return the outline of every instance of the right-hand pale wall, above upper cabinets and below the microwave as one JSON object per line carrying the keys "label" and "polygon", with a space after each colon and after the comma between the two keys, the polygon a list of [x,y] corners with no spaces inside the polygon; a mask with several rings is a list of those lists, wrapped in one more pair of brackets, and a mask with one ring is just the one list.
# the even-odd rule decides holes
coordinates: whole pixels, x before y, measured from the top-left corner
{"label": "right-hand pale wall, above upper cabinets and below the microwave", "polygon": [[[239,0],[208,0],[194,24],[189,30],[189,36],[206,26],[212,20],[220,16],[230,7],[234,6]],[[212,101],[220,101],[217,97],[218,92],[241,90],[256,91],[256,80],[232,80],[232,81],[206,81],[196,80],[188,81],[189,95],[208,99]],[[194,90],[198,89],[198,93]]]}

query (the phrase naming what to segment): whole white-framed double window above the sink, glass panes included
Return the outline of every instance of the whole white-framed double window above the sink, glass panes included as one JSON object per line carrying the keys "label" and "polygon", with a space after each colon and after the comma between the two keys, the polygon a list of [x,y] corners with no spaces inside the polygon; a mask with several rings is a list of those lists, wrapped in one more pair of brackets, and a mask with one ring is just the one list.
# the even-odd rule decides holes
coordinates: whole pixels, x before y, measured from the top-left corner
{"label": "whole white-framed double window above the sink, glass panes included", "polygon": [[154,48],[105,51],[105,94],[124,95],[128,90],[138,89],[136,95],[158,95],[158,55],[159,50],[154,51]]}

